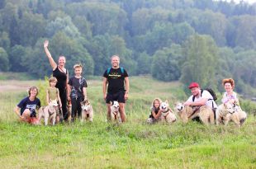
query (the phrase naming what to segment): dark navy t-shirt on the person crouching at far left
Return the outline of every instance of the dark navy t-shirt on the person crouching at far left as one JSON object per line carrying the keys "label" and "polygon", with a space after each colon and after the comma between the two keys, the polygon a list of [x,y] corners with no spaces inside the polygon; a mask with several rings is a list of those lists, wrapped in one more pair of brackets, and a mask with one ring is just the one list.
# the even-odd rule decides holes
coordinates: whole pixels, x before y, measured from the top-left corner
{"label": "dark navy t-shirt on the person crouching at far left", "polygon": [[35,98],[34,101],[31,101],[27,96],[17,106],[21,108],[21,115],[25,109],[29,109],[31,110],[31,117],[36,117],[36,109],[40,108],[40,100]]}

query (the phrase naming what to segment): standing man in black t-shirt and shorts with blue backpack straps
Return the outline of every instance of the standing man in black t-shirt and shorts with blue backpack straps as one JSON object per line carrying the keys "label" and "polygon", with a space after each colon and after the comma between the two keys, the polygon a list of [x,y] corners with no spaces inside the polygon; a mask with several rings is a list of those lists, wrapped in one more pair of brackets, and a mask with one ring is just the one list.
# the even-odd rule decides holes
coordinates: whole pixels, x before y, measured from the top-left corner
{"label": "standing man in black t-shirt and shorts with blue backpack straps", "polygon": [[[111,57],[111,68],[103,74],[103,97],[107,103],[107,120],[111,119],[110,101],[118,101],[121,121],[126,121],[125,103],[129,93],[129,79],[126,69],[119,67],[118,55]],[[126,84],[126,85],[125,85]],[[126,87],[125,87],[126,86]]]}

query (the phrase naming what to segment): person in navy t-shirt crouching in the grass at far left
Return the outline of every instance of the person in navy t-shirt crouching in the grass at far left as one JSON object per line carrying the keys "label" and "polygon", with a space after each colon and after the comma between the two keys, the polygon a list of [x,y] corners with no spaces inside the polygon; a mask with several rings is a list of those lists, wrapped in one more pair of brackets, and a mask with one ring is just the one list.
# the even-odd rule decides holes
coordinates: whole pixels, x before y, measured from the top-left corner
{"label": "person in navy t-shirt crouching in the grass at far left", "polygon": [[40,108],[40,100],[36,98],[38,94],[37,87],[30,87],[28,95],[15,108],[15,112],[21,121],[30,124],[38,124],[36,119],[36,109]]}

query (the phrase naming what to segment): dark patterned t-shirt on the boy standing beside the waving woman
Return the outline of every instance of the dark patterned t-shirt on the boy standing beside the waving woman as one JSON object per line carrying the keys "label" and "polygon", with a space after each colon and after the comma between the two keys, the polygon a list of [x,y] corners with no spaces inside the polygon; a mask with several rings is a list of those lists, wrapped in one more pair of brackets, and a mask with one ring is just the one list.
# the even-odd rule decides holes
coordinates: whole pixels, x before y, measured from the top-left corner
{"label": "dark patterned t-shirt on the boy standing beside the waving woman", "polygon": [[83,98],[83,87],[87,87],[87,82],[84,77],[69,78],[69,85],[71,86],[70,97],[71,98]]}

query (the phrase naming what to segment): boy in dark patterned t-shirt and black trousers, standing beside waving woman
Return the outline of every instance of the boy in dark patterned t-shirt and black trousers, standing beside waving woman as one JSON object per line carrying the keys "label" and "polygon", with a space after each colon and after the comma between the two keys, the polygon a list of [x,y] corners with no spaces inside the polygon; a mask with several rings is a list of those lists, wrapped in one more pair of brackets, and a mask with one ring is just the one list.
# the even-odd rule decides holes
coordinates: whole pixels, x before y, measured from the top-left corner
{"label": "boy in dark patterned t-shirt and black trousers, standing beside waving woman", "polygon": [[68,100],[71,100],[72,110],[71,110],[71,120],[74,121],[77,117],[81,118],[81,104],[80,101],[87,100],[86,87],[87,82],[84,77],[82,77],[83,67],[81,64],[75,64],[73,66],[74,77],[69,78],[68,87]]}

